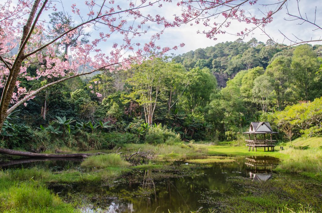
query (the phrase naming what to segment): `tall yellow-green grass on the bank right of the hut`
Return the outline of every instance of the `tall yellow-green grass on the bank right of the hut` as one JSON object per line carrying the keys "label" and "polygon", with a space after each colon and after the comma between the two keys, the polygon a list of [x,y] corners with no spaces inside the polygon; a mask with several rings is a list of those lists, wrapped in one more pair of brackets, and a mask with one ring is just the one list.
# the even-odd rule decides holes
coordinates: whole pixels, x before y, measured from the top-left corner
{"label": "tall yellow-green grass on the bank right of the hut", "polygon": [[278,170],[296,173],[322,173],[322,150],[289,148],[280,152],[287,154],[289,157],[279,164]]}

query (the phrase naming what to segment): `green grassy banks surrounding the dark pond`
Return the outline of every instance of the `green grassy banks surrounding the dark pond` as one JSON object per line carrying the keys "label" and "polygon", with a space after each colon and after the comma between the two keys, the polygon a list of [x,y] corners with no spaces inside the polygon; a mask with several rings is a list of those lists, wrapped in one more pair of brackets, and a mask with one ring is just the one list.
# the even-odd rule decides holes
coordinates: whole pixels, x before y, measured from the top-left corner
{"label": "green grassy banks surrounding the dark pond", "polygon": [[[299,139],[297,139],[299,141]],[[302,139],[302,141],[304,141]],[[304,141],[308,143],[307,141]],[[316,144],[314,146],[317,146]],[[155,171],[151,174],[154,180],[163,180],[169,177],[183,177],[185,175],[194,175],[194,168],[206,165],[207,163],[223,163],[233,162],[234,156],[263,156],[268,155],[281,159],[281,163],[276,169],[279,175],[285,173],[297,173],[306,175],[312,179],[310,181],[322,181],[322,149],[308,148],[300,150],[288,148],[284,145],[284,150],[280,151],[279,147],[275,152],[264,152],[263,148],[258,148],[257,152],[249,152],[245,146],[229,146],[229,145],[209,145],[209,144],[174,144],[174,145],[149,145],[149,144],[125,144],[121,150],[122,157],[115,154],[115,150],[111,154],[91,156],[85,159],[79,168],[71,168],[69,170],[51,172],[43,168],[17,169],[0,171],[0,212],[77,212],[81,207],[81,201],[75,199],[70,203],[63,202],[56,194],[48,190],[48,185],[71,185],[82,183],[102,183],[105,185],[113,185],[113,181],[120,179],[122,175],[131,173],[133,182],[141,180],[146,170]],[[131,165],[124,160],[125,154],[129,156],[138,150],[142,152],[150,151],[153,159],[147,160],[143,165]],[[71,150],[70,150],[71,151]],[[48,151],[47,151],[48,152]],[[207,156],[211,155],[211,156]],[[228,155],[213,156],[213,155]],[[190,159],[200,156],[200,159]],[[173,165],[174,160],[185,159],[189,165],[180,163],[178,166]],[[279,183],[283,182],[282,176]],[[314,180],[313,180],[314,179]],[[281,209],[282,204],[279,202],[278,193],[270,193],[269,190],[279,190],[282,187],[274,184],[274,187],[265,185],[256,185],[246,180],[240,184],[252,188],[258,188],[265,192],[259,196],[255,196],[255,192],[238,197],[225,197],[223,200],[217,200],[218,208],[226,208],[221,206],[227,203],[230,210],[236,210],[238,207],[244,212],[257,211],[259,209],[254,206],[272,205],[275,210]],[[236,183],[237,183],[236,182]],[[254,185],[255,184],[255,185]],[[287,196],[293,195],[291,188],[284,187]],[[284,189],[283,189],[284,190]],[[302,189],[297,189],[302,190]],[[315,190],[313,188],[312,190]],[[308,191],[304,191],[307,193]],[[295,192],[294,192],[295,193]],[[296,193],[295,193],[296,194]],[[307,193],[309,194],[309,193]],[[298,194],[296,194],[298,196]],[[283,196],[282,196],[283,197]],[[42,202],[38,202],[42,199]],[[293,199],[293,197],[292,197]],[[300,199],[305,203],[305,198]],[[244,203],[252,202],[256,205],[247,207]],[[314,201],[316,203],[316,201]],[[220,204],[220,205],[219,205]],[[317,206],[317,204],[314,204]],[[290,208],[298,209],[297,203],[292,201]],[[267,207],[268,208],[268,207]],[[286,209],[286,208],[285,208]],[[286,210],[285,210],[286,211]]]}

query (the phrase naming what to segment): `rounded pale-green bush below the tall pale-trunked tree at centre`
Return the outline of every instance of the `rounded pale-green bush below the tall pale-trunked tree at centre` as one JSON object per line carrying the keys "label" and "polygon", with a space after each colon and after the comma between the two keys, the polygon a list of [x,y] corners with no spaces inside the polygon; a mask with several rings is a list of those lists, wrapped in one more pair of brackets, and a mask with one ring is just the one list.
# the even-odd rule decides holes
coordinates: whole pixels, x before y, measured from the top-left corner
{"label": "rounded pale-green bush below the tall pale-trunked tree at centre", "polygon": [[180,135],[175,134],[171,129],[161,124],[152,126],[145,137],[145,142],[149,144],[173,144],[181,142]]}

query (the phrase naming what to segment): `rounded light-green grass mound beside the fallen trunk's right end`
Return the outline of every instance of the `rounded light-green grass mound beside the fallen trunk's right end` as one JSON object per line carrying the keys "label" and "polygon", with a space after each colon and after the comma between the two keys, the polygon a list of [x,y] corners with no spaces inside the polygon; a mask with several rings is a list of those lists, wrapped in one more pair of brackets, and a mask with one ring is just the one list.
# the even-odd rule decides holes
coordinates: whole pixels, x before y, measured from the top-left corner
{"label": "rounded light-green grass mound beside the fallen trunk's right end", "polygon": [[106,167],[127,167],[130,164],[124,161],[118,154],[102,154],[96,156],[90,156],[86,158],[82,163],[85,167],[96,167],[96,168],[106,168]]}

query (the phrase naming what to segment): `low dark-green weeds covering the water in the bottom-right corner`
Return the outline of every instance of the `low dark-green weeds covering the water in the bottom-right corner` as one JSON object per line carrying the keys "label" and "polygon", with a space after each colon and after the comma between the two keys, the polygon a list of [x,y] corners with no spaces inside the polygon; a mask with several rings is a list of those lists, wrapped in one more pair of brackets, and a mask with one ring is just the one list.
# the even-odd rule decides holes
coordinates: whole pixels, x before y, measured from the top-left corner
{"label": "low dark-green weeds covering the water in the bottom-right corner", "polygon": [[227,181],[242,185],[245,192],[240,193],[237,190],[236,193],[219,198],[203,195],[203,200],[216,206],[219,212],[299,213],[319,212],[322,208],[319,196],[321,184],[303,178],[293,179],[276,174],[274,179],[269,181],[251,181],[243,177],[233,177]]}

